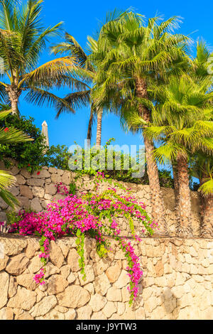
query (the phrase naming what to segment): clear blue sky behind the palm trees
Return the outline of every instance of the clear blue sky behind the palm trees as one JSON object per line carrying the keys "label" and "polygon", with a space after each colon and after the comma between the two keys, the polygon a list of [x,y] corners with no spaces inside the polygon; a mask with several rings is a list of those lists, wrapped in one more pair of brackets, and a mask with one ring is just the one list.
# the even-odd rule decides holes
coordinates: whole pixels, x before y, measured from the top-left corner
{"label": "clear blue sky behind the palm trees", "polygon": [[[180,32],[192,34],[194,41],[199,36],[204,38],[212,49],[212,14],[213,1],[192,1],[192,0],[107,0],[107,1],[72,1],[72,0],[44,0],[43,21],[46,26],[53,26],[59,21],[63,21],[65,31],[74,36],[84,47],[87,43],[87,36],[91,36],[97,29],[99,21],[104,21],[107,11],[117,9],[128,9],[133,7],[138,13],[146,18],[163,14],[165,18],[178,15],[182,16]],[[54,44],[56,40],[53,39]],[[213,49],[212,49],[213,50]],[[48,53],[43,54],[40,64],[53,58]],[[68,90],[58,92],[58,95],[67,94]],[[65,144],[68,147],[77,141],[77,144],[84,144],[87,136],[87,124],[89,121],[89,108],[77,110],[76,114],[63,114],[60,119],[55,120],[55,110],[47,107],[36,107],[27,104],[21,99],[21,114],[35,118],[35,124],[41,127],[42,122],[48,122],[50,145]],[[95,140],[96,124],[93,129],[93,140]],[[114,115],[105,116],[103,119],[102,143],[114,137],[116,144],[143,144],[139,135],[125,134],[119,124],[119,118]]]}

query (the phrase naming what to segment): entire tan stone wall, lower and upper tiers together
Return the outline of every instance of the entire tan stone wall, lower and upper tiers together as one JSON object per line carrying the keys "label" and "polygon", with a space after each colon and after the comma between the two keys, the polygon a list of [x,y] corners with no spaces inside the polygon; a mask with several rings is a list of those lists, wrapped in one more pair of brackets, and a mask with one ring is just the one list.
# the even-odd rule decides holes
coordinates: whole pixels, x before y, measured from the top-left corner
{"label": "entire tan stone wall, lower and upper tiers together", "polygon": [[[0,169],[4,165],[0,163]],[[93,191],[92,178],[76,179],[75,173],[43,167],[40,173],[10,168],[16,176],[11,192],[21,208],[36,212],[63,196],[58,183],[77,185],[77,195]],[[148,185],[121,183],[131,188],[136,198],[146,204],[151,215]],[[109,185],[104,183],[102,191]],[[117,188],[122,193],[123,190]],[[75,238],[51,242],[46,284],[38,286],[33,276],[41,263],[39,239],[0,234],[0,320],[1,319],[212,319],[213,320],[213,239],[200,239],[200,198],[192,192],[192,227],[194,238],[175,237],[175,196],[163,188],[170,237],[143,238],[136,246],[143,268],[139,296],[129,307],[126,259],[119,248],[99,259],[95,241],[86,239],[86,274],[82,280],[78,266]],[[0,199],[0,221],[6,220],[8,206]],[[119,217],[121,235],[129,236],[124,217]],[[141,235],[141,227],[136,232]],[[133,242],[133,241],[132,241]],[[2,256],[3,255],[3,256]]]}

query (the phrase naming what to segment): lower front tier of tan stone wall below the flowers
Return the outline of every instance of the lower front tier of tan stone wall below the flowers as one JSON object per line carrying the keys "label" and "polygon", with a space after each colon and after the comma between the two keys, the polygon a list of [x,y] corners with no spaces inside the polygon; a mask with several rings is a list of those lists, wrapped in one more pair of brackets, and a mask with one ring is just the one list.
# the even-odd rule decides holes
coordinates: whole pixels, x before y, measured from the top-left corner
{"label": "lower front tier of tan stone wall below the flowers", "polygon": [[0,235],[0,247],[0,320],[213,320],[212,239],[143,239],[136,246],[143,279],[131,307],[126,259],[118,248],[100,259],[94,240],[86,239],[83,281],[75,238],[51,242],[46,283],[38,286],[39,239]]}

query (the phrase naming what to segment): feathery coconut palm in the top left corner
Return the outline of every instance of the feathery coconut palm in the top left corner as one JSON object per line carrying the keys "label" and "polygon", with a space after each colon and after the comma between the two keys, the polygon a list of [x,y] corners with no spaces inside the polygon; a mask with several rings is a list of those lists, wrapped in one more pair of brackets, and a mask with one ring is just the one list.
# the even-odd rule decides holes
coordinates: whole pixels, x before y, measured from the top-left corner
{"label": "feathery coconut palm in the top left corner", "polygon": [[59,33],[62,23],[44,29],[40,20],[42,1],[28,0],[23,7],[15,6],[14,2],[0,1],[0,57],[5,78],[0,81],[1,96],[9,99],[12,112],[16,114],[22,92],[26,92],[28,102],[38,106],[45,103],[58,107],[60,104],[64,110],[74,112],[70,104],[48,90],[65,85],[68,78],[70,82],[75,60],[57,58],[37,67],[46,43]]}

